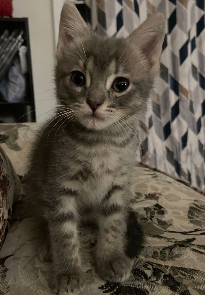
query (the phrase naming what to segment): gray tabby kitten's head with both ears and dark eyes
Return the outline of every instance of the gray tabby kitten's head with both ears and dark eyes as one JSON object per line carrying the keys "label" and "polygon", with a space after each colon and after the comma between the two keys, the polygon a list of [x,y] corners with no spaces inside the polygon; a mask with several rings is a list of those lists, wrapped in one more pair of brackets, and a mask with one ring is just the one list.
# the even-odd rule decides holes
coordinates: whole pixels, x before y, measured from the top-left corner
{"label": "gray tabby kitten's head with both ears and dark eyes", "polygon": [[137,117],[159,69],[164,31],[163,15],[155,14],[127,38],[102,38],[66,1],[56,55],[59,111],[94,130]]}

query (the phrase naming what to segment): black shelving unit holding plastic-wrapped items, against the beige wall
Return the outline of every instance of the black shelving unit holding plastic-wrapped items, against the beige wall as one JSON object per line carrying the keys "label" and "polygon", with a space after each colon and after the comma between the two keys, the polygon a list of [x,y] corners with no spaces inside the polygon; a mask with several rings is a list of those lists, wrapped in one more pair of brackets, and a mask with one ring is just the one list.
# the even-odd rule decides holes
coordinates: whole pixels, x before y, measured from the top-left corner
{"label": "black shelving unit holding plastic-wrapped items, against the beige wall", "polygon": [[23,102],[9,103],[0,94],[0,123],[35,122],[35,102],[33,93],[32,65],[27,18],[0,17],[0,35],[5,30],[11,34],[14,30],[24,31],[22,45],[27,46],[26,97]]}

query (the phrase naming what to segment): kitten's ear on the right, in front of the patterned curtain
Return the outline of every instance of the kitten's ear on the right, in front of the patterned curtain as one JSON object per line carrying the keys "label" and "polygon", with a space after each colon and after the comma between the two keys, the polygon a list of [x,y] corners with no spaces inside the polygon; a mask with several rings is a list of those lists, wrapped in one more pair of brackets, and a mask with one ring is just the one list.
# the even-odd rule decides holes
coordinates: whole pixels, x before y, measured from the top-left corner
{"label": "kitten's ear on the right, in front of the patterned curtain", "polygon": [[134,44],[145,55],[151,74],[159,70],[164,36],[165,19],[162,13],[157,13],[149,17],[128,37],[128,42]]}

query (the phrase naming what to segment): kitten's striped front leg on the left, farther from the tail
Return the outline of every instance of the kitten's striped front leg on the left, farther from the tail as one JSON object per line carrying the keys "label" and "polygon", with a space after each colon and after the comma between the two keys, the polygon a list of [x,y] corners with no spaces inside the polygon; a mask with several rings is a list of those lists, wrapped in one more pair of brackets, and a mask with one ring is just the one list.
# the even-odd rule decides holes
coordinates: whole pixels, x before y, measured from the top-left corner
{"label": "kitten's striped front leg on the left, farther from the tail", "polygon": [[77,295],[83,288],[78,238],[79,217],[73,194],[60,196],[59,204],[49,212],[51,283],[59,295]]}

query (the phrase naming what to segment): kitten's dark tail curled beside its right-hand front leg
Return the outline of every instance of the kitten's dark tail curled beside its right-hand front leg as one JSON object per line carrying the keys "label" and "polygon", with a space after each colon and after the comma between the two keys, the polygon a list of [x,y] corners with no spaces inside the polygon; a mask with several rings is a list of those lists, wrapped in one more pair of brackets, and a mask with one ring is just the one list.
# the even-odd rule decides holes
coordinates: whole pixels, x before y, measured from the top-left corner
{"label": "kitten's dark tail curled beside its right-hand front leg", "polygon": [[130,258],[136,257],[144,243],[144,235],[142,228],[137,219],[137,213],[134,211],[128,212],[127,216],[127,248],[126,255]]}

